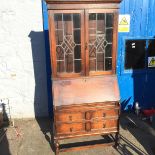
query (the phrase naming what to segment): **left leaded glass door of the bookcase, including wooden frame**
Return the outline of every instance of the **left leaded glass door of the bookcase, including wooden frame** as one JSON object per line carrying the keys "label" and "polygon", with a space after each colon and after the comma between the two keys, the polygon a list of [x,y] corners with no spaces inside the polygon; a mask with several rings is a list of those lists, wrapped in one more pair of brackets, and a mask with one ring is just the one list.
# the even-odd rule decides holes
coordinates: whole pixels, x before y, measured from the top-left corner
{"label": "left leaded glass door of the bookcase, including wooden frame", "polygon": [[50,36],[54,77],[84,75],[84,11],[51,10]]}

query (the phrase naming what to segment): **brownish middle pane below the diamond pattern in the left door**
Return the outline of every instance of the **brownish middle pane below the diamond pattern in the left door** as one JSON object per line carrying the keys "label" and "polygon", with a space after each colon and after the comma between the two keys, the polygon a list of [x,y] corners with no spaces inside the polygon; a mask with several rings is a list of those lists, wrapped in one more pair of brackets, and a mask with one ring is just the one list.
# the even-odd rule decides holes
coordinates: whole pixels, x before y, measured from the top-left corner
{"label": "brownish middle pane below the diamond pattern in the left door", "polygon": [[66,72],[68,73],[73,72],[73,55],[72,54],[65,55],[65,68],[66,68]]}

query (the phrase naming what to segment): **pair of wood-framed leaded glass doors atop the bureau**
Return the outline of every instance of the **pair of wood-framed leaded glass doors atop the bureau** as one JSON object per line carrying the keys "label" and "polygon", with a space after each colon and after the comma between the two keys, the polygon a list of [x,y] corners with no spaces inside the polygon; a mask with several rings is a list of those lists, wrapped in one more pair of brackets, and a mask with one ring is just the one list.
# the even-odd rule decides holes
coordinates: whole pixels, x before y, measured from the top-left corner
{"label": "pair of wood-framed leaded glass doors atop the bureau", "polygon": [[116,10],[50,10],[49,13],[53,77],[115,73]]}

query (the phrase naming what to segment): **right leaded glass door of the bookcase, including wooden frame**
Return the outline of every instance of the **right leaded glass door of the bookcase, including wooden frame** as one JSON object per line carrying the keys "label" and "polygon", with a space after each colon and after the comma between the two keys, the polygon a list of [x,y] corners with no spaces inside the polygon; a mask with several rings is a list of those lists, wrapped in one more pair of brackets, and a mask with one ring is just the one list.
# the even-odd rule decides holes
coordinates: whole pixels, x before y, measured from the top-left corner
{"label": "right leaded glass door of the bookcase, including wooden frame", "polygon": [[87,75],[115,73],[115,10],[86,11]]}

